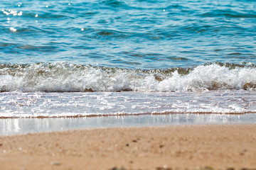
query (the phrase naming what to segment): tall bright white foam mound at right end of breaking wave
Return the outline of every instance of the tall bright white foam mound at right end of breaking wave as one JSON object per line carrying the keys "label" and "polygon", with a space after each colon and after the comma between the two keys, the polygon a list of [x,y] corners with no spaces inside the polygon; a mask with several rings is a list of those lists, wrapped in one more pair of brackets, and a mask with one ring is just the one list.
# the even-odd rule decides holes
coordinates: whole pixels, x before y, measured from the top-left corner
{"label": "tall bright white foam mound at right end of breaking wave", "polygon": [[[198,66],[182,76],[174,72],[172,77],[159,82],[159,91],[198,91],[214,89],[245,89],[256,84],[255,68],[228,69],[220,65]],[[250,85],[249,85],[250,84]]]}

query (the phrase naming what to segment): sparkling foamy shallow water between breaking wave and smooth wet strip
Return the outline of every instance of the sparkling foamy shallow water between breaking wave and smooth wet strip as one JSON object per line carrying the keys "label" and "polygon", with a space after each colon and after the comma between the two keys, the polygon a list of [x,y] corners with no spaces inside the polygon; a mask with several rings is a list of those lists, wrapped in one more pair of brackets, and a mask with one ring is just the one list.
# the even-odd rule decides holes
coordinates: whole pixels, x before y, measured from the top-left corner
{"label": "sparkling foamy shallow water between breaking wave and smooth wet strip", "polygon": [[1,93],[2,118],[256,113],[252,91]]}

